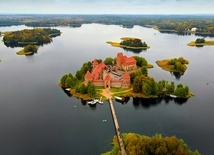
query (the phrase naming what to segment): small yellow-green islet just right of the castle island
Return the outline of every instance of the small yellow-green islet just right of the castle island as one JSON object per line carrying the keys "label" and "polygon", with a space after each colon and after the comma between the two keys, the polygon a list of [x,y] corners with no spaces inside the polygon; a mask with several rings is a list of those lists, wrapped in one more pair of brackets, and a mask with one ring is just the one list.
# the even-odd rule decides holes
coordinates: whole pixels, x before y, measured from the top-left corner
{"label": "small yellow-green islet just right of the castle island", "polygon": [[184,74],[187,69],[188,60],[183,57],[156,61],[157,65],[163,70]]}

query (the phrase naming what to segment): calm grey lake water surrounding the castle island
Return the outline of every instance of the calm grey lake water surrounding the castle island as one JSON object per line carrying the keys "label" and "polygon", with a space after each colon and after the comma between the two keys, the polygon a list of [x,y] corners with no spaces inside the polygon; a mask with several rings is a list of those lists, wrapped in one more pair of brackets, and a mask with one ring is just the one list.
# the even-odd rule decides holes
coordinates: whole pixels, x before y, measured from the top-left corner
{"label": "calm grey lake water surrounding the castle island", "polygon": [[[0,27],[0,31],[24,28],[30,27]],[[146,58],[154,65],[149,76],[188,85],[195,93],[186,101],[114,101],[121,132],[175,135],[190,149],[213,154],[213,46],[189,47],[187,43],[198,36],[163,34],[140,26],[127,29],[85,24],[80,28],[55,28],[61,30],[61,36],[33,56],[16,55],[21,48],[8,48],[0,42],[0,154],[98,155],[109,151],[115,130],[108,102],[90,107],[66,95],[58,83],[62,75],[75,74],[84,62],[116,57],[118,52]],[[133,53],[106,43],[119,42],[124,36],[141,38],[151,48]],[[155,63],[180,56],[190,62],[182,76],[164,71]]]}

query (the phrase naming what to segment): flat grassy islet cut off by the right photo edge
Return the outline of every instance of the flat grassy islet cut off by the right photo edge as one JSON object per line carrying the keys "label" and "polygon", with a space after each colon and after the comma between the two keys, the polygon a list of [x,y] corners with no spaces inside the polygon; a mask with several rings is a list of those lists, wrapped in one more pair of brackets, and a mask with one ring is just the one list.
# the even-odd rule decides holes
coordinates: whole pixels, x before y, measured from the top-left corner
{"label": "flat grassy islet cut off by the right photo edge", "polygon": [[195,41],[191,41],[187,45],[196,47],[213,46],[214,40],[205,40],[204,38],[197,38]]}

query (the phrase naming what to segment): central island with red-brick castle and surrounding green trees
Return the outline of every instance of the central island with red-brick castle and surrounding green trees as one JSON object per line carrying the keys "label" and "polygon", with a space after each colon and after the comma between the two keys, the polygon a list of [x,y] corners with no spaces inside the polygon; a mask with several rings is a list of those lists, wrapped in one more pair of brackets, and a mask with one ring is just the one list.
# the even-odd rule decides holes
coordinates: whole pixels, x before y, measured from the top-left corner
{"label": "central island with red-brick castle and surrounding green trees", "polygon": [[166,80],[156,82],[148,76],[148,68],[151,67],[143,57],[127,57],[120,52],[116,58],[109,57],[104,61],[95,59],[84,63],[75,76],[71,73],[63,75],[59,86],[83,100],[101,97],[107,99],[107,90],[113,98],[158,98],[162,95],[190,98],[194,95],[188,86],[176,86],[174,82]]}

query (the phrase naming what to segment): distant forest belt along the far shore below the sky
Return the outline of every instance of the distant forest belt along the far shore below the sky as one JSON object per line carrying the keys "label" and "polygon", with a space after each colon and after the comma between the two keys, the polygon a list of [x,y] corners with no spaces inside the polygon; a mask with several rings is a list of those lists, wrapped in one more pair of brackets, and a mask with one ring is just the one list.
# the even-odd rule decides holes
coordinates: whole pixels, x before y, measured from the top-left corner
{"label": "distant forest belt along the far shore below the sky", "polygon": [[[81,27],[82,24],[90,23],[120,25],[125,28],[139,25],[152,27],[164,33],[182,35],[214,35],[213,15],[0,15],[0,26]],[[197,31],[191,32],[194,27]]]}

